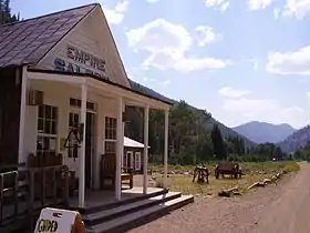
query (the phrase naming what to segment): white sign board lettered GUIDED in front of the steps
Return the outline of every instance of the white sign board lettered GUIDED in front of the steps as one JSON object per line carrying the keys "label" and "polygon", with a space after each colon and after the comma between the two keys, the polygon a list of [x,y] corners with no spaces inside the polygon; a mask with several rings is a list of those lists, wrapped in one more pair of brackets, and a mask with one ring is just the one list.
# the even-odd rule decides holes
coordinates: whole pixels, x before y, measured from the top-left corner
{"label": "white sign board lettered GUIDED in front of the steps", "polygon": [[78,212],[45,207],[37,221],[34,233],[70,233]]}

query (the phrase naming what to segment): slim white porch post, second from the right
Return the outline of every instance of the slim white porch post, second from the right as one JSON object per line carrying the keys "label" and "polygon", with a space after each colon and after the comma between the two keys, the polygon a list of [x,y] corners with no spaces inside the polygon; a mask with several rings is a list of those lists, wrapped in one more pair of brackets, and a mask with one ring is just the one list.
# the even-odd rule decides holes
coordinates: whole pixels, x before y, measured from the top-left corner
{"label": "slim white porch post, second from the right", "polygon": [[143,155],[143,194],[147,193],[147,162],[148,162],[148,112],[149,107],[144,109],[144,155]]}

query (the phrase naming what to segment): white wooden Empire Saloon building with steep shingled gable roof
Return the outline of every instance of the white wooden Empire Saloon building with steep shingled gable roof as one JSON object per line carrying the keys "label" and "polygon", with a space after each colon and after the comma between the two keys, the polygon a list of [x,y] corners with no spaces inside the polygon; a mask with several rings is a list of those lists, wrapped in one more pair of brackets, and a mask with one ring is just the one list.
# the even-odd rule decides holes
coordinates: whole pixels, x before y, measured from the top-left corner
{"label": "white wooden Empire Saloon building with steep shingled gable roof", "polygon": [[[106,169],[121,200],[123,114],[125,105],[137,105],[145,110],[136,166],[144,174],[143,192],[149,109],[165,111],[167,176],[172,103],[131,88],[100,4],[1,26],[0,89],[0,168],[27,164],[29,154],[49,164],[61,153],[61,162],[79,180],[80,206],[85,205],[85,189],[100,189]],[[79,140],[71,132],[79,132]]]}

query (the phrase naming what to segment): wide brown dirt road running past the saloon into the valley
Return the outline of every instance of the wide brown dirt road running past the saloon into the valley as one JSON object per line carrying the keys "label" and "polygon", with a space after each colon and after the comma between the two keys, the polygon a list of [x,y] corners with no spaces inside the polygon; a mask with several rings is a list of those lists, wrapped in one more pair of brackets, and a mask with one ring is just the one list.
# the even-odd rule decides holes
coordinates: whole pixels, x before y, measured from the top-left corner
{"label": "wide brown dirt road running past the saloon into the valley", "polygon": [[241,197],[196,197],[195,203],[131,233],[309,233],[310,164],[279,185]]}

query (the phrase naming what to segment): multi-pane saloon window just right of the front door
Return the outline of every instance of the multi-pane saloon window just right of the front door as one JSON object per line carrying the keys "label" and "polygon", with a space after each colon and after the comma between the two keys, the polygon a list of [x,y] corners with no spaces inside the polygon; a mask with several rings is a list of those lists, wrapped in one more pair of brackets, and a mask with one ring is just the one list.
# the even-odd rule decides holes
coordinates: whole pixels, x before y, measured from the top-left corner
{"label": "multi-pane saloon window just right of the front door", "polygon": [[105,118],[105,154],[116,153],[116,122],[115,118]]}

